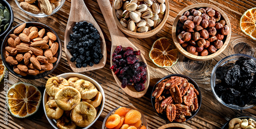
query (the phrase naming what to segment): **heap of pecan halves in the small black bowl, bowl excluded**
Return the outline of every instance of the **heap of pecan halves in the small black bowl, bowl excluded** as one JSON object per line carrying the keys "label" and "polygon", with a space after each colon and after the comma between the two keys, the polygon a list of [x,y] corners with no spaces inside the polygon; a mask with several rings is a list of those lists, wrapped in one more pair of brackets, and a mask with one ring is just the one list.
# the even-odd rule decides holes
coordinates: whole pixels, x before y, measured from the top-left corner
{"label": "heap of pecan halves in the small black bowl, bowl excluded", "polygon": [[186,116],[198,110],[199,92],[186,78],[172,76],[156,85],[153,92],[157,113],[166,116],[170,122],[184,122]]}

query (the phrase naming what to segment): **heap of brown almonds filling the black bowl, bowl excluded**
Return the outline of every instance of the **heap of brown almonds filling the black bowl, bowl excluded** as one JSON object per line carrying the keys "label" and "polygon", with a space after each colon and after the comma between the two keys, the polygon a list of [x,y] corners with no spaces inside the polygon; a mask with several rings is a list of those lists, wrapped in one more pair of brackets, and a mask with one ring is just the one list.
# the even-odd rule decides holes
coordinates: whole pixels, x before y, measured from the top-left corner
{"label": "heap of brown almonds filling the black bowl, bowl excluded", "polygon": [[7,40],[6,62],[22,76],[50,71],[58,56],[59,44],[56,40],[56,35],[44,28],[38,31],[37,27],[28,27],[26,23],[19,25]]}

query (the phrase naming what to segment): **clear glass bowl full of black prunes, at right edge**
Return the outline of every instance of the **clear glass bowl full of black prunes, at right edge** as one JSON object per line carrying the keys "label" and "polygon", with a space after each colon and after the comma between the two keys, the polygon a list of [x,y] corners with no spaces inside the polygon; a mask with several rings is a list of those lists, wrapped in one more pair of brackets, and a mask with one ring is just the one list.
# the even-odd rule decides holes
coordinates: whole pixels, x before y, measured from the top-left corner
{"label": "clear glass bowl full of black prunes, at right edge", "polygon": [[233,54],[221,59],[211,72],[211,90],[225,106],[244,110],[256,105],[256,59]]}

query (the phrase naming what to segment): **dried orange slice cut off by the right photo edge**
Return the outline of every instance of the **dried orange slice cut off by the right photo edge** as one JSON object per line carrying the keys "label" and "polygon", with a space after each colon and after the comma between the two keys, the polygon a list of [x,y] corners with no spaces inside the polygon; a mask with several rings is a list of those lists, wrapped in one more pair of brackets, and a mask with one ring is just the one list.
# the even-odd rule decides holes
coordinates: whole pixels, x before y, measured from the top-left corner
{"label": "dried orange slice cut off by the right photo edge", "polygon": [[240,19],[241,30],[256,40],[256,8],[247,10]]}

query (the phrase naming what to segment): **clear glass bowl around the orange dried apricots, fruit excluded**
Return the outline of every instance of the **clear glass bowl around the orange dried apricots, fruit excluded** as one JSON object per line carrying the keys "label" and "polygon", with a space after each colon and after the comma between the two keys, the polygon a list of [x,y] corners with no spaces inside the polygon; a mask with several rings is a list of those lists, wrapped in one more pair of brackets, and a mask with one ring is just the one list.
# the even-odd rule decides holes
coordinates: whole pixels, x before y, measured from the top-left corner
{"label": "clear glass bowl around the orange dried apricots, fruit excluded", "polygon": [[[137,110],[137,109],[135,109],[134,107],[132,107],[132,106],[119,106],[119,107],[126,107],[127,109],[131,109],[131,110]],[[105,123],[106,123],[106,120],[111,116],[111,115],[113,115],[114,113],[115,113],[115,111],[117,110],[117,109],[119,109],[119,107],[116,107],[115,109],[113,109],[108,115],[106,115],[106,117],[105,117],[105,119],[104,119],[104,121],[103,121],[103,123],[102,123],[102,129],[106,129],[106,126],[105,126]],[[139,110],[137,110],[137,111],[139,111]],[[140,111],[139,111],[140,112]],[[140,112],[141,113],[141,112]],[[141,118],[140,118],[140,120],[141,120],[141,125],[144,125],[146,128],[147,128],[147,122],[146,122],[146,118],[144,117],[144,115],[141,113]]]}

